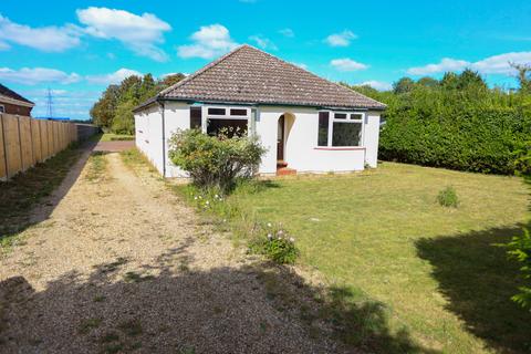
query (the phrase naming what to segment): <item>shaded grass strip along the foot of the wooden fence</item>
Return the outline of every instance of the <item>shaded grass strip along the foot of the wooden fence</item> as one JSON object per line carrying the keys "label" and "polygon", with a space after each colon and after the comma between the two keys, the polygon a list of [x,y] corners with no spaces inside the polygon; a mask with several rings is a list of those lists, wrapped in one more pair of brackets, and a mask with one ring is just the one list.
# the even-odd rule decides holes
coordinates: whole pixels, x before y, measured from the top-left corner
{"label": "shaded grass strip along the foot of the wooden fence", "polygon": [[80,149],[66,148],[45,163],[0,183],[0,247],[3,250],[29,226],[31,208],[59,187],[80,156]]}

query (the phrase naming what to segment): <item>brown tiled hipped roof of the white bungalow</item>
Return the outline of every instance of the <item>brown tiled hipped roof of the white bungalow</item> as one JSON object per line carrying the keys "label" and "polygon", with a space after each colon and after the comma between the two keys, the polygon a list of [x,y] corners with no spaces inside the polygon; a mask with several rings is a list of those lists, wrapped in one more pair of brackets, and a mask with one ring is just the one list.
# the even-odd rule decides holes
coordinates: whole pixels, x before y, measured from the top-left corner
{"label": "brown tiled hipped roof of the white bungalow", "polygon": [[158,100],[384,110],[385,105],[250,45],[241,45]]}

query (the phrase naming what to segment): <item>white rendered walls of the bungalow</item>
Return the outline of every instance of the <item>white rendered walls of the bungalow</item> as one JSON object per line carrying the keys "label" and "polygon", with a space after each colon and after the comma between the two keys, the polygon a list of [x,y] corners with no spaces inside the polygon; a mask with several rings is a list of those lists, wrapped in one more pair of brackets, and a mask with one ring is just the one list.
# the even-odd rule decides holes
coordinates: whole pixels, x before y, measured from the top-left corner
{"label": "white rendered walls of the bungalow", "polygon": [[[187,177],[185,171],[169,160],[168,140],[177,131],[190,127],[189,108],[190,105],[187,103],[165,103],[164,140],[163,115],[158,105],[153,105],[142,113],[135,114],[136,146],[160,174],[165,170],[165,177]],[[256,133],[267,148],[259,168],[261,174],[277,173],[278,121],[282,114],[288,114],[284,127],[287,136],[284,160],[288,163],[288,167],[300,173],[363,170],[365,164],[376,167],[379,112],[365,113],[362,146],[342,148],[317,146],[319,111],[316,108],[260,106],[257,110]]]}

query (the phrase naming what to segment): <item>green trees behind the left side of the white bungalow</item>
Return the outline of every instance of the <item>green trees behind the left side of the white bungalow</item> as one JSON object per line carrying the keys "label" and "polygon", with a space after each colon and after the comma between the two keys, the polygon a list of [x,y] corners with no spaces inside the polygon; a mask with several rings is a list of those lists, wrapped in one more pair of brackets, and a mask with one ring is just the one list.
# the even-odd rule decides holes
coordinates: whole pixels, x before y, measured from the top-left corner
{"label": "green trees behind the left side of the white bungalow", "polygon": [[180,73],[160,80],[153,79],[152,74],[132,75],[118,85],[111,84],[92,106],[92,121],[106,132],[134,134],[133,108],[184,77]]}

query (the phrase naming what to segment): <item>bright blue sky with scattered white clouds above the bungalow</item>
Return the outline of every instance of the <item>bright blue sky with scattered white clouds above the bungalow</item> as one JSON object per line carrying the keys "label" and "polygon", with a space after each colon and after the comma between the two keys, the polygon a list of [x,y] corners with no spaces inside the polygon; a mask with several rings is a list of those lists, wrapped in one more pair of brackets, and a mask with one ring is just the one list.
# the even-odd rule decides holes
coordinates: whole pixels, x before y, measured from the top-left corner
{"label": "bright blue sky with scattered white clouds above the bungalow", "polygon": [[45,114],[87,118],[131,73],[192,73],[249,43],[321,76],[384,90],[472,67],[514,87],[531,63],[531,1],[13,1],[0,4],[0,82]]}

